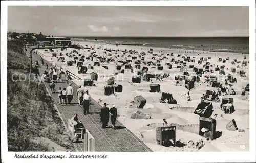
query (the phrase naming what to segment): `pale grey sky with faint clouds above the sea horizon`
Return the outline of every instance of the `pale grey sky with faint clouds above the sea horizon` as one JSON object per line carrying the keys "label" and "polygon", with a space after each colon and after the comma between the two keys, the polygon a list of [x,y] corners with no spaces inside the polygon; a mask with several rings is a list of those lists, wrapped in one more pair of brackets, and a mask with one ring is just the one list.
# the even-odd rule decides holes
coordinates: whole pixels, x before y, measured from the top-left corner
{"label": "pale grey sky with faint clouds above the sea horizon", "polygon": [[8,31],[54,36],[249,36],[242,6],[8,6]]}

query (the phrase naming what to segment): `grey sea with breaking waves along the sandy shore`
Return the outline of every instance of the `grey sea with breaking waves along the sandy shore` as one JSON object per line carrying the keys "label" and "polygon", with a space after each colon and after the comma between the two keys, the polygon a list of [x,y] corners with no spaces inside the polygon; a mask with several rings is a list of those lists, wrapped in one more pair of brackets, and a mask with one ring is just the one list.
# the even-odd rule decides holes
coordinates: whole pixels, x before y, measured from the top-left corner
{"label": "grey sea with breaking waves along the sandy shore", "polygon": [[178,48],[249,54],[249,37],[71,37],[74,39],[132,46]]}

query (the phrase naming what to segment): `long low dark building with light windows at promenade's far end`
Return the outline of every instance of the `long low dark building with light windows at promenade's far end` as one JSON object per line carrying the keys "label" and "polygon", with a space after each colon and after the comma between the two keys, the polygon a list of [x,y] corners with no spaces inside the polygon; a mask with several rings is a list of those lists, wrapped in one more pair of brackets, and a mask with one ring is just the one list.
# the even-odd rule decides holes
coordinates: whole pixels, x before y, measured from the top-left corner
{"label": "long low dark building with light windows at promenade's far end", "polygon": [[44,42],[51,42],[54,45],[60,45],[60,46],[67,46],[71,45],[71,38],[65,38],[65,37],[37,37],[36,41],[38,43],[44,43]]}

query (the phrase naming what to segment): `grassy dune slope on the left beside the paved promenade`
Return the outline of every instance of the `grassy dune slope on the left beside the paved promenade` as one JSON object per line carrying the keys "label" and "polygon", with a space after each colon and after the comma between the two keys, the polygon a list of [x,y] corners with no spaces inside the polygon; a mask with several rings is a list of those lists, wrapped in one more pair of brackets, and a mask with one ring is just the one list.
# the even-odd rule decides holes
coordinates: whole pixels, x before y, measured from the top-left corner
{"label": "grassy dune slope on the left beside the paved promenade", "polygon": [[[29,58],[22,45],[18,40],[8,41],[8,151],[50,151],[49,144],[34,141],[38,137],[48,138],[63,149],[73,151],[74,145],[44,84],[28,80]],[[26,75],[16,81],[21,73]]]}

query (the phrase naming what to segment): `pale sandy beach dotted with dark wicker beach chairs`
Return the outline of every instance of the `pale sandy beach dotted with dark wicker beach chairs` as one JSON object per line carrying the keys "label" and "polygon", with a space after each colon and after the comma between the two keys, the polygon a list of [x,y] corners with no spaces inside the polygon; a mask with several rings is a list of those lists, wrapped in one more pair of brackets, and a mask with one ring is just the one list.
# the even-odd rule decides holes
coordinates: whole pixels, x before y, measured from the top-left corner
{"label": "pale sandy beach dotted with dark wicker beach chairs", "polygon": [[[203,52],[203,51],[191,51],[191,50],[181,50],[181,49],[169,49],[169,48],[153,48],[153,54],[158,54],[155,56],[156,59],[152,59],[153,54],[148,54],[150,51],[150,47],[144,46],[128,46],[128,45],[110,45],[106,43],[96,43],[96,42],[86,42],[86,41],[75,41],[74,44],[79,43],[82,46],[88,46],[90,49],[73,49],[68,48],[63,51],[61,49],[54,49],[54,52],[57,54],[57,57],[60,57],[59,54],[62,53],[65,57],[65,62],[58,62],[57,57],[52,57],[52,52],[45,52],[44,50],[38,50],[41,56],[50,61],[52,65],[56,65],[58,68],[61,66],[64,71],[69,70],[76,76],[80,77],[82,80],[73,80],[77,85],[83,86],[84,79],[90,79],[90,73],[95,72],[98,74],[98,80],[94,82],[96,85],[93,87],[84,87],[85,90],[89,90],[92,98],[98,101],[101,105],[103,103],[107,103],[108,107],[111,107],[113,104],[116,105],[118,109],[118,120],[130,131],[132,131],[138,138],[140,138],[148,147],[150,147],[153,151],[249,151],[249,95],[248,92],[245,96],[241,96],[241,90],[249,83],[249,65],[242,67],[243,60],[249,61],[249,56],[246,55],[246,59],[244,59],[244,55],[242,54],[232,54],[226,52]],[[105,54],[105,49],[111,49],[113,51],[107,52]],[[66,54],[70,54],[73,50],[77,50],[78,53],[75,54],[78,59],[78,54],[84,55],[88,57],[91,52],[95,52],[97,56],[102,56],[106,58],[112,57],[115,59],[115,62],[109,63],[101,63],[100,66],[94,66],[94,62],[97,61],[97,58],[94,58],[93,61],[86,60],[83,62],[83,65],[88,66],[91,64],[94,69],[88,69],[86,74],[78,74],[78,68],[76,64],[73,66],[68,66],[67,61],[73,60],[66,56]],[[138,53],[126,53],[124,57],[121,57],[124,50],[133,50]],[[145,52],[144,56],[145,61],[156,62],[157,58],[163,58],[161,60],[161,65],[163,66],[163,70],[157,70],[157,66],[154,65],[143,65],[141,63],[141,68],[143,66],[148,67],[148,73],[161,74],[169,73],[169,77],[163,78],[162,81],[158,81],[155,78],[152,79],[152,82],[146,82],[141,79],[141,83],[132,83],[132,77],[138,76],[137,72],[140,69],[135,68],[135,63],[130,62],[133,67],[133,73],[130,69],[125,69],[124,74],[118,73],[116,70],[116,65],[121,65],[122,63],[117,61],[125,61],[132,60],[132,57],[137,57],[141,52]],[[110,56],[111,54],[112,56]],[[163,55],[161,55],[163,54]],[[173,56],[167,55],[173,54]],[[180,54],[180,57],[177,55]],[[119,57],[118,57],[119,56]],[[175,76],[182,76],[183,72],[180,71],[180,68],[177,68],[177,65],[174,64],[172,69],[168,69],[166,63],[170,63],[170,60],[174,58],[175,60],[184,60],[181,58],[182,56],[190,56],[195,59],[195,62],[187,62],[187,66],[183,68],[183,71],[189,73],[190,76],[195,76],[196,73],[193,71],[193,68],[189,68],[189,65],[193,65],[194,67],[203,68],[203,65],[206,62],[210,64],[214,64],[214,66],[210,67],[210,70],[214,70],[217,65],[220,67],[225,65],[226,74],[232,74],[233,77],[237,78],[236,83],[231,83],[232,88],[236,91],[236,95],[225,95],[219,96],[220,100],[223,97],[233,98],[234,111],[232,114],[225,114],[220,109],[220,104],[217,102],[212,102],[214,107],[213,113],[211,115],[217,121],[216,131],[222,132],[222,135],[219,138],[214,140],[207,141],[204,137],[198,134],[199,132],[199,115],[194,114],[194,110],[197,108],[198,104],[201,101],[202,94],[206,93],[206,90],[216,90],[213,87],[208,86],[208,83],[205,82],[205,76],[211,75],[212,73],[204,73],[200,78],[200,82],[195,82],[195,87],[191,89],[190,97],[191,101],[187,101],[185,95],[188,92],[188,89],[185,88],[185,82],[180,81],[180,85],[176,85]],[[202,64],[198,65],[198,60],[200,57],[209,58],[207,61],[203,61]],[[219,62],[218,58],[226,59],[229,57],[229,60],[226,60],[225,63]],[[241,61],[240,63],[231,64],[231,61],[237,59]],[[133,60],[132,60],[133,61]],[[98,61],[99,62],[99,61]],[[108,66],[108,69],[103,68],[102,66]],[[239,66],[240,68],[237,68]],[[49,66],[50,67],[50,66]],[[231,72],[231,68],[236,68],[236,72]],[[246,77],[240,77],[239,70],[243,69],[246,73]],[[218,81],[224,83],[225,75],[220,75],[219,72],[214,71],[216,77],[218,76]],[[122,92],[117,92],[115,96],[105,96],[104,95],[104,86],[107,85],[106,82],[110,77],[115,78],[115,83],[122,85]],[[169,92],[173,95],[173,98],[177,101],[177,104],[165,104],[160,103],[161,93],[150,92],[150,84],[160,84],[162,92]],[[132,101],[134,101],[134,97],[141,95],[146,99],[146,104],[143,109],[136,108]],[[133,113],[137,111],[141,111],[143,113],[150,113],[152,115],[151,119],[131,119]],[[193,142],[198,142],[200,139],[203,140],[204,146],[201,149],[193,148],[191,146],[184,147],[164,147],[157,145],[156,141],[156,128],[158,126],[163,126],[163,118],[166,119],[168,124],[176,125],[176,141],[180,140],[180,142],[187,144],[190,140]],[[245,132],[237,132],[237,131],[229,131],[226,129],[226,125],[232,120],[236,120],[237,126],[239,129],[245,130]],[[109,122],[110,123],[110,122]],[[245,146],[245,149],[241,148]]]}

